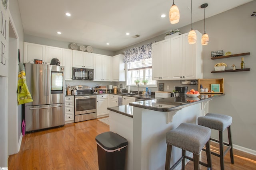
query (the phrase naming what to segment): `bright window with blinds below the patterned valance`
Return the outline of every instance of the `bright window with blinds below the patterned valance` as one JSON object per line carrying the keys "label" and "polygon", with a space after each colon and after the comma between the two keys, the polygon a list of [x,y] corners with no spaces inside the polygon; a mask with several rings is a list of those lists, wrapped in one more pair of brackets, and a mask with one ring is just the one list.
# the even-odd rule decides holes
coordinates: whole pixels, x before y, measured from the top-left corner
{"label": "bright window with blinds below the patterned valance", "polygon": [[142,59],[127,63],[127,85],[136,85],[135,80],[147,80],[147,86],[156,86],[156,80],[152,80],[152,59]]}

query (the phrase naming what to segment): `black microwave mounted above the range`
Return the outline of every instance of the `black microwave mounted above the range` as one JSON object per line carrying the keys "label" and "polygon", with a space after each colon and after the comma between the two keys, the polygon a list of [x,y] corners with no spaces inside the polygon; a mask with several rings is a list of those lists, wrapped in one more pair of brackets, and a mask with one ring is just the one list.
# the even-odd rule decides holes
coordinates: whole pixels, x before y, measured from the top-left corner
{"label": "black microwave mounted above the range", "polygon": [[73,80],[93,80],[93,69],[73,67]]}

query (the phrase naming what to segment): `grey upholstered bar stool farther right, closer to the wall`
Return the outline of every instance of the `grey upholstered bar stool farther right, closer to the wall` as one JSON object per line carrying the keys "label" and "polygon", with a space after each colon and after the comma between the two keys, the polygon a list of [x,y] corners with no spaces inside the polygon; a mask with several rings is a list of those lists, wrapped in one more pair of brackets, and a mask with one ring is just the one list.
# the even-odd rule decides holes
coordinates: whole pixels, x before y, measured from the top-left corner
{"label": "grey upholstered bar stool farther right, closer to the wall", "polygon": [[[209,127],[219,131],[219,140],[210,140],[218,142],[220,145],[220,154],[211,152],[211,154],[220,157],[220,169],[224,170],[224,156],[230,151],[230,161],[234,164],[233,146],[230,125],[232,124],[232,117],[228,115],[221,115],[217,113],[207,113],[205,116],[198,117],[198,125]],[[228,143],[223,142],[223,131],[228,128]],[[224,150],[223,146],[226,145],[228,148]],[[204,149],[203,149],[204,150]]]}

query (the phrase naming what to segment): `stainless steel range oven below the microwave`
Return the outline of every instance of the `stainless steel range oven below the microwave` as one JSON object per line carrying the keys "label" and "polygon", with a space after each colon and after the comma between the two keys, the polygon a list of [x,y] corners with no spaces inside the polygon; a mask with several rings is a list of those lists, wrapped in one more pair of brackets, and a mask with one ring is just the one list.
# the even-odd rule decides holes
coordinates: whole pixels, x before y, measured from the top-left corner
{"label": "stainless steel range oven below the microwave", "polygon": [[72,86],[76,88],[75,122],[97,118],[97,97],[91,94],[90,86]]}

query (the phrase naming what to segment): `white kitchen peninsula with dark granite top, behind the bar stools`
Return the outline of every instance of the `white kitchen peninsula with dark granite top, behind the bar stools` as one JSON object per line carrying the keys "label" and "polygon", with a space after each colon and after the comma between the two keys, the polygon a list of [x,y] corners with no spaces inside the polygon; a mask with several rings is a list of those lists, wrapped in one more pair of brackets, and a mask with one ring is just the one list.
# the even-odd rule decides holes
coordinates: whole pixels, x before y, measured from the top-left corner
{"label": "white kitchen peninsula with dark granite top, behind the bar stools", "polygon": [[[207,94],[197,98],[188,98],[185,95],[108,107],[110,131],[118,133],[128,141],[125,169],[163,170],[167,147],[166,133],[183,122],[197,124],[197,118],[208,113],[209,101],[223,95]],[[172,149],[170,166],[181,154],[181,149]]]}

